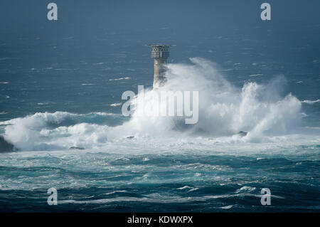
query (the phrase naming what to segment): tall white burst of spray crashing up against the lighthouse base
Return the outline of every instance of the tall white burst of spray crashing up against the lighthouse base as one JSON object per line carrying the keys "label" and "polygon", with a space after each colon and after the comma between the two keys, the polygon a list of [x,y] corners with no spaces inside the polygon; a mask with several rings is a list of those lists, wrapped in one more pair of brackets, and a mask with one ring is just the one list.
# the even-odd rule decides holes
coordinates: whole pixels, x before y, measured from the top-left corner
{"label": "tall white burst of spray crashing up against the lighthouse base", "polygon": [[[127,123],[138,132],[163,136],[180,131],[184,134],[232,136],[240,131],[249,132],[242,140],[257,140],[264,134],[286,133],[299,122],[301,103],[293,95],[279,97],[277,89],[282,78],[267,85],[245,83],[242,89],[233,87],[220,75],[213,63],[191,58],[193,65],[170,64],[168,82],[160,90],[198,90],[199,121],[186,128],[178,117],[133,116]],[[149,105],[156,105],[151,92],[144,95]],[[137,110],[139,102],[137,100]],[[137,111],[138,112],[138,111]]]}

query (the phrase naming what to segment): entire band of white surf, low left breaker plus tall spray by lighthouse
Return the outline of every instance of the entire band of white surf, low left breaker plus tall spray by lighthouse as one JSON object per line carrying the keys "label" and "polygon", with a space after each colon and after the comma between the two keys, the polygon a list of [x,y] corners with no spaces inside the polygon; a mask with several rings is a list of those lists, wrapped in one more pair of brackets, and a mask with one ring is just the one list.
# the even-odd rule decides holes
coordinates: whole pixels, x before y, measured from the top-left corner
{"label": "entire band of white surf, low left breaker plus tall spray by lighthouse", "polygon": [[[234,149],[225,149],[228,144],[232,147],[239,143],[267,142],[263,146],[268,149],[269,142],[292,144],[297,138],[304,141],[302,135],[292,134],[302,118],[302,104],[292,94],[285,97],[278,94],[282,77],[274,78],[266,85],[250,82],[242,88],[235,88],[215,69],[214,63],[202,58],[191,58],[191,63],[169,64],[168,81],[159,90],[199,91],[199,120],[195,125],[185,125],[183,117],[139,117],[135,114],[129,121],[116,127],[81,121],[76,125],[63,125],[66,119],[83,115],[38,112],[0,122],[0,125],[5,126],[4,137],[20,150],[82,147],[138,153],[179,149],[212,150],[214,147],[215,152],[220,154]],[[113,80],[124,79],[129,78]],[[137,111],[141,108],[141,100],[137,98],[134,102]],[[146,90],[144,102],[151,107],[158,104],[150,90]],[[248,133],[241,137],[238,134],[240,131]],[[247,146],[245,150],[248,150]],[[241,153],[241,149],[237,149],[237,152]]]}

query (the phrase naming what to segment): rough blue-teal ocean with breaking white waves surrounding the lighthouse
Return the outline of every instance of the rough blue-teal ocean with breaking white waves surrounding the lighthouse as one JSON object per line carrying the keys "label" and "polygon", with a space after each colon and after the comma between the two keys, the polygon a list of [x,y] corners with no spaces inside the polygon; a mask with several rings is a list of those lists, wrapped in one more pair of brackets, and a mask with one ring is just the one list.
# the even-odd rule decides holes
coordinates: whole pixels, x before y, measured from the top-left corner
{"label": "rough blue-teal ocean with breaking white waves surrounding the lighthouse", "polygon": [[[320,20],[89,17],[1,29],[0,212],[320,211]],[[155,103],[152,42],[176,44],[163,89],[199,92],[195,125],[122,115],[138,85]]]}

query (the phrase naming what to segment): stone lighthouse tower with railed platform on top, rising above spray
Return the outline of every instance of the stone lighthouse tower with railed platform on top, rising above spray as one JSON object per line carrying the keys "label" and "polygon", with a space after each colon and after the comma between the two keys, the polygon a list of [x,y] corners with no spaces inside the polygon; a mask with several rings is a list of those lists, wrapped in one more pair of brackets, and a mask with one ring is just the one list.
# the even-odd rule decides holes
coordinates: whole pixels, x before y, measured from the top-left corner
{"label": "stone lighthouse tower with railed platform on top, rising above spray", "polygon": [[152,47],[151,58],[154,58],[154,88],[166,83],[166,59],[169,58],[169,47],[174,45],[148,45]]}

